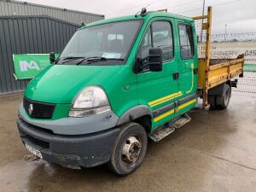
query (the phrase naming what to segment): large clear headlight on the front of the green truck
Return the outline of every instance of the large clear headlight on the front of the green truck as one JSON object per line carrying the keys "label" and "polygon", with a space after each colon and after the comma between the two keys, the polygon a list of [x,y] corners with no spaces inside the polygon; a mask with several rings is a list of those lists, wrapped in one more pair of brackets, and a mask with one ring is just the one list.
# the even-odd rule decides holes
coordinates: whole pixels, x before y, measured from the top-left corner
{"label": "large clear headlight on the front of the green truck", "polygon": [[104,90],[97,86],[89,86],[76,96],[69,111],[69,116],[84,117],[109,110],[110,106]]}

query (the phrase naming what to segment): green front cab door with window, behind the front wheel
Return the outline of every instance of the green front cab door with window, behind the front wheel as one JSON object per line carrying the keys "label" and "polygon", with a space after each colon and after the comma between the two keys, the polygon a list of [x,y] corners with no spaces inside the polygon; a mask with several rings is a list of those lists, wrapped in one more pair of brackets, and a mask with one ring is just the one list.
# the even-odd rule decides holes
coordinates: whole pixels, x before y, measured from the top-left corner
{"label": "green front cab door with window, behind the front wheel", "polygon": [[[138,102],[153,111],[153,130],[173,118],[175,101],[180,95],[173,37],[172,19],[154,19],[148,24],[137,53],[137,60],[142,61],[137,73]],[[148,60],[144,59],[153,47],[163,50],[163,68],[160,72],[150,72]]]}

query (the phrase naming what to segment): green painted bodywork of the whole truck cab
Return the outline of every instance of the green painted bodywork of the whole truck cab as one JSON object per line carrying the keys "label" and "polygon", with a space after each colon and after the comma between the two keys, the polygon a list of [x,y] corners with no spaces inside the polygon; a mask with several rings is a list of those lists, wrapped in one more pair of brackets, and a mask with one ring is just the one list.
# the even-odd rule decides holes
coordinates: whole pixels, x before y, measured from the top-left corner
{"label": "green painted bodywork of the whole truck cab", "polygon": [[[194,59],[183,61],[180,57],[177,29],[178,22],[188,23],[192,26],[195,39],[195,26],[193,20],[178,15],[157,12],[145,16],[138,15],[135,17],[132,15],[110,20],[100,20],[84,26],[79,30],[83,30],[83,28],[90,26],[99,26],[124,20],[143,20],[143,26],[137,34],[137,38],[131,47],[125,65],[50,65],[27,85],[25,96],[38,102],[56,103],[57,105],[53,119],[60,119],[67,117],[74,97],[77,96],[80,90],[89,85],[101,86],[102,89],[106,91],[111,108],[118,116],[121,116],[129,108],[140,104],[147,105],[150,108],[148,102],[172,95],[178,91],[182,92],[182,96],[160,103],[160,105],[154,106],[151,109],[154,110],[163,107],[170,102],[175,102],[177,101],[177,98],[195,94],[197,89],[197,75],[192,73],[192,70],[193,67],[198,66],[196,43],[194,44]],[[137,51],[148,27],[155,20],[166,20],[172,23],[174,43],[173,59],[164,63],[161,72],[135,74],[133,72],[133,65],[137,58]],[[179,73],[179,79],[174,80],[172,73],[177,72]],[[195,103],[164,119],[160,119],[156,123],[154,123],[153,119],[152,130],[194,106]]]}

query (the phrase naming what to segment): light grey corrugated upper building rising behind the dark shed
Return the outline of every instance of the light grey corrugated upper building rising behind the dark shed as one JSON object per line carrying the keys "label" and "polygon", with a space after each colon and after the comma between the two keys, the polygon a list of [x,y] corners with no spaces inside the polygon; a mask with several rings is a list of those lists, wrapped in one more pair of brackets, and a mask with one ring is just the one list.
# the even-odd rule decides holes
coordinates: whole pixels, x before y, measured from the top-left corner
{"label": "light grey corrugated upper building rising behind the dark shed", "polygon": [[[85,3],[84,3],[85,6]],[[104,15],[96,15],[70,9],[60,9],[39,5],[34,3],[24,3],[19,1],[0,0],[0,15],[49,15],[60,20],[81,24],[91,23],[96,20],[103,20]]]}

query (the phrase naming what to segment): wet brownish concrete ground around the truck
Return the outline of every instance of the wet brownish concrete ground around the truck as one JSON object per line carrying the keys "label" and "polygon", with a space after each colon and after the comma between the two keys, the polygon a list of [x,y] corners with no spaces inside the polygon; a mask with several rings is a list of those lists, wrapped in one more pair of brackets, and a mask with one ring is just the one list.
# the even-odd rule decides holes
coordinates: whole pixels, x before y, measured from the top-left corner
{"label": "wet brownish concrete ground around the truck", "polygon": [[256,191],[256,95],[233,94],[224,111],[193,111],[127,177],[106,166],[71,170],[29,154],[15,125],[21,96],[0,98],[0,191]]}

